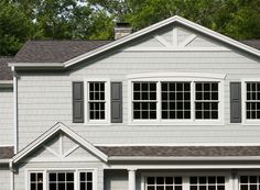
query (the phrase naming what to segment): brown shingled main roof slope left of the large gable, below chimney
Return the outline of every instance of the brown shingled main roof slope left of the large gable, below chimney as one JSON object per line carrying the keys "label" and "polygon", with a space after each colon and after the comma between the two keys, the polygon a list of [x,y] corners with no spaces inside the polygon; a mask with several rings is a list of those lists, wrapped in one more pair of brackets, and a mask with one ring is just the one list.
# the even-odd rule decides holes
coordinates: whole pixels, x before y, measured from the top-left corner
{"label": "brown shingled main roof slope left of the large gable, below chimney", "polygon": [[28,41],[15,55],[17,63],[63,63],[111,41]]}

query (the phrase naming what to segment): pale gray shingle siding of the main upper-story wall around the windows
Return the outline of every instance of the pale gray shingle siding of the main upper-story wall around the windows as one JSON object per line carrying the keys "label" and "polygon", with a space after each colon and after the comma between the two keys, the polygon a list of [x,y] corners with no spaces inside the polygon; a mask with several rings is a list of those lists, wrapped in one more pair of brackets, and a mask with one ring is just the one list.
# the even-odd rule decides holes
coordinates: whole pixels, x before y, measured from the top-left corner
{"label": "pale gray shingle siding of the main upper-story wall around the windows", "polygon": [[[191,35],[188,32],[178,33],[183,40]],[[225,125],[128,125],[127,75],[156,71],[227,74],[224,100]],[[72,81],[98,77],[122,81],[123,123],[104,126],[72,123]],[[56,122],[63,122],[95,144],[260,143],[260,126],[230,123],[229,82],[247,77],[260,78],[260,63],[232,49],[210,53],[117,52],[104,56],[95,64],[72,70],[71,74],[24,72],[18,82],[19,148],[28,145]]]}

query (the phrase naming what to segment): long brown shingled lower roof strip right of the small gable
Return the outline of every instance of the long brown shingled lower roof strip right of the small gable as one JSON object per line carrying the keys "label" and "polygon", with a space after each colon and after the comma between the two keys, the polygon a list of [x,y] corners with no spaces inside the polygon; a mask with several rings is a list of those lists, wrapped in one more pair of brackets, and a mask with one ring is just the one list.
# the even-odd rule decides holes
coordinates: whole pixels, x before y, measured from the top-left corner
{"label": "long brown shingled lower roof strip right of the small gable", "polygon": [[226,157],[260,156],[260,146],[97,146],[107,156]]}

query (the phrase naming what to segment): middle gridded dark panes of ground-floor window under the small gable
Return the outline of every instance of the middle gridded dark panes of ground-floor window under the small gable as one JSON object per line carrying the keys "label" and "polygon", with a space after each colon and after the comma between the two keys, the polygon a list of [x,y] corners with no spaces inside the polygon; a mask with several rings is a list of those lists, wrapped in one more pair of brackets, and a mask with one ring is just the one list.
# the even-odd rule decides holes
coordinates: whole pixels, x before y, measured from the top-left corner
{"label": "middle gridded dark panes of ground-floor window under the small gable", "polygon": [[74,190],[74,172],[48,172],[48,190]]}

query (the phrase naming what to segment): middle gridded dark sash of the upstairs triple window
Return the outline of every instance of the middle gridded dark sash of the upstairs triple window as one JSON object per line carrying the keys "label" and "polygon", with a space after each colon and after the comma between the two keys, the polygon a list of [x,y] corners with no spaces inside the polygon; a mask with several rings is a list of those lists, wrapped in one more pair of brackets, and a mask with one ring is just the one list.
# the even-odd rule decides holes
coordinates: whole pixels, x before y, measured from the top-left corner
{"label": "middle gridded dark sash of the upstairs triple window", "polygon": [[191,119],[191,82],[161,82],[162,119]]}

